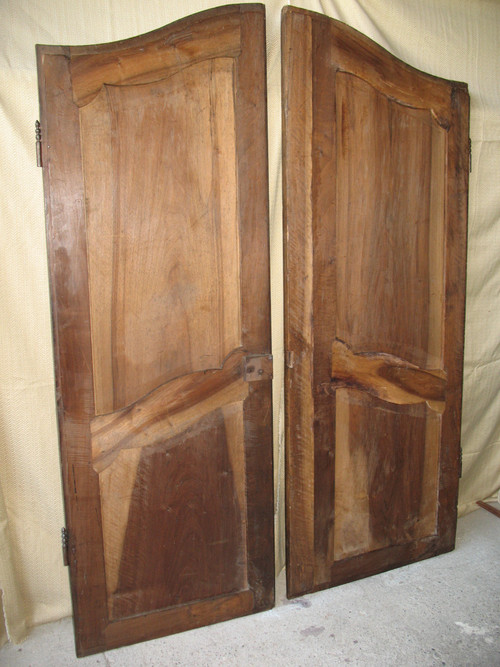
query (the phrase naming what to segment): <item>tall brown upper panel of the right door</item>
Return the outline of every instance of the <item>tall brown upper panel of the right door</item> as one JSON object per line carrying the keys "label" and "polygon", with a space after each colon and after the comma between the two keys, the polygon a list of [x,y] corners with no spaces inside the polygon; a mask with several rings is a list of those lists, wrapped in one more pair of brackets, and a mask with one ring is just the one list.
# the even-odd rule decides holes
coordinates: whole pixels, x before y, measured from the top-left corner
{"label": "tall brown upper panel of the right door", "polygon": [[441,368],[446,132],[345,72],[336,104],[335,335]]}

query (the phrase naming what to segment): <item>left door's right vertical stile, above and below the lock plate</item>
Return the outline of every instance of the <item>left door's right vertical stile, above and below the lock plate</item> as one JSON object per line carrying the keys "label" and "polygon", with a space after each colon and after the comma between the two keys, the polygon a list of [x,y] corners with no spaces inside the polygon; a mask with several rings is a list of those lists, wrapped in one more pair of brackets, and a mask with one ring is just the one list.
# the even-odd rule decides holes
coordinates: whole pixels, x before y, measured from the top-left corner
{"label": "left door's right vertical stile, above and below the lock plate", "polygon": [[[255,7],[255,5],[254,5]],[[243,348],[271,352],[266,40],[264,7],[241,5],[241,55],[235,81],[236,152],[241,238]],[[244,184],[244,187],[243,187]],[[256,304],[259,304],[258,306]],[[271,382],[252,382],[243,406],[248,585],[254,611],[274,605],[274,518]]]}

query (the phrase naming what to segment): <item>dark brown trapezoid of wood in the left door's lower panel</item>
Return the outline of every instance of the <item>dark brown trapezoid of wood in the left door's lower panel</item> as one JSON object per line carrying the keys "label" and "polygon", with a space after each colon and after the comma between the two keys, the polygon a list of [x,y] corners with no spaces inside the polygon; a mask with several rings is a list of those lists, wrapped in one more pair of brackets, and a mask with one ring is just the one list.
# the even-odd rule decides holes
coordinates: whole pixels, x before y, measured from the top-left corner
{"label": "dark brown trapezoid of wood in the left door's lower panel", "polygon": [[112,619],[248,588],[245,494],[236,493],[227,420],[216,410],[167,450],[141,452]]}

